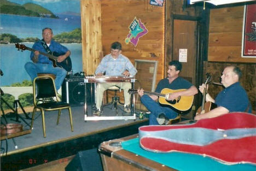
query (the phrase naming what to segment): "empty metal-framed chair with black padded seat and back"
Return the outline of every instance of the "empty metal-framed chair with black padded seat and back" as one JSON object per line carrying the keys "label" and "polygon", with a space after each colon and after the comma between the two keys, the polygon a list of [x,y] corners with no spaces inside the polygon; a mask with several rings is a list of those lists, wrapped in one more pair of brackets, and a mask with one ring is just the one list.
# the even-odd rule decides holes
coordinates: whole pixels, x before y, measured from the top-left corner
{"label": "empty metal-framed chair with black padded seat and back", "polygon": [[[45,98],[54,99],[54,97],[56,101],[54,100],[42,101],[42,99],[45,99]],[[38,103],[38,102],[41,102],[41,103]],[[37,78],[34,79],[33,103],[34,103],[34,109],[32,114],[31,129],[33,128],[34,114],[36,113],[37,109],[40,109],[42,114],[44,138],[46,137],[44,111],[59,110],[59,114],[57,117],[57,125],[58,125],[60,120],[61,110],[68,109],[71,131],[73,132],[71,107],[68,103],[60,102],[59,99],[57,98],[55,83],[51,76],[38,76]]]}

